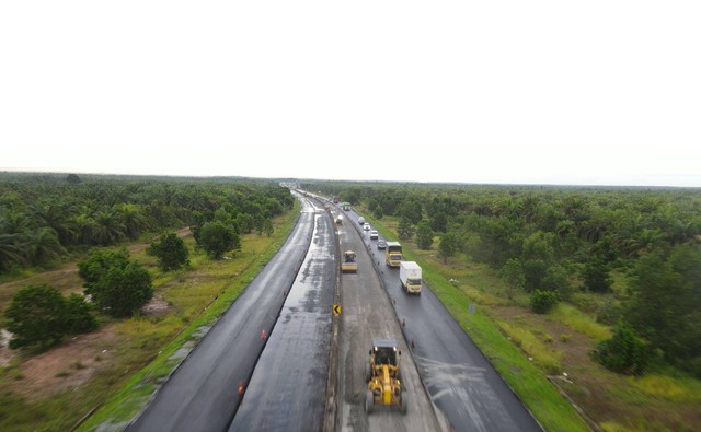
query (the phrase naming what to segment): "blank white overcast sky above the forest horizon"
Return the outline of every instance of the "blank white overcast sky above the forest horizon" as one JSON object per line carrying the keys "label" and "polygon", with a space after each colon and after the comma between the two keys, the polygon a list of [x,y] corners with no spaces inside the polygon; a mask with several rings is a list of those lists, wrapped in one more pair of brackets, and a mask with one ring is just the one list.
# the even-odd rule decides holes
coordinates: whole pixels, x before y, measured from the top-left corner
{"label": "blank white overcast sky above the forest horizon", "polygon": [[0,171],[701,186],[701,2],[2,1]]}

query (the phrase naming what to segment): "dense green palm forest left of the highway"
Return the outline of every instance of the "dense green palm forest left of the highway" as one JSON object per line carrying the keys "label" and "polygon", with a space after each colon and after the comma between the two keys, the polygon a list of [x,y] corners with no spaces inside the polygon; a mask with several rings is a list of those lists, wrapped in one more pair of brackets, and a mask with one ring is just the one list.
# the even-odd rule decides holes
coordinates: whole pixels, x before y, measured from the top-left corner
{"label": "dense green palm forest left of the highway", "polygon": [[273,182],[77,174],[0,175],[0,276],[46,267],[91,246],[207,222],[233,234],[272,230],[291,208]]}

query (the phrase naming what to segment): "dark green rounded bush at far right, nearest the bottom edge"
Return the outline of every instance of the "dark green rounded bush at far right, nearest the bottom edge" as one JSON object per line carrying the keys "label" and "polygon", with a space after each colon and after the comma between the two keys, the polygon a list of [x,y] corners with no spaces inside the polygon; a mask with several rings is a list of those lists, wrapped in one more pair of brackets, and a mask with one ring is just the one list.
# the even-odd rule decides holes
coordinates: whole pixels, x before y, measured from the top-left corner
{"label": "dark green rounded bush at far right, nearest the bottom edge", "polygon": [[647,364],[647,347],[633,329],[620,323],[611,339],[602,340],[594,358],[607,369],[618,373],[642,375]]}

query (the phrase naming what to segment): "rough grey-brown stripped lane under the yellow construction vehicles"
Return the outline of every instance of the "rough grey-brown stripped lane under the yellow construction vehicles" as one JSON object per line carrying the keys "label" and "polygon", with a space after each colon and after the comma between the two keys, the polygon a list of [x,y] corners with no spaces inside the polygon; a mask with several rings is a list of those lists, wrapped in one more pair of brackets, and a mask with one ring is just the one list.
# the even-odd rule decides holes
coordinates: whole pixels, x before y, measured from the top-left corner
{"label": "rough grey-brown stripped lane under the yellow construction vehicles", "polygon": [[[337,213],[337,209],[334,208]],[[341,250],[355,250],[358,272],[341,276],[341,313],[337,353],[337,431],[441,431],[445,421],[423,387],[411,351],[406,348],[392,304],[381,288],[363,240],[348,219],[338,227]],[[365,411],[366,367],[372,338],[394,338],[402,351],[402,377],[409,410],[378,408]]]}

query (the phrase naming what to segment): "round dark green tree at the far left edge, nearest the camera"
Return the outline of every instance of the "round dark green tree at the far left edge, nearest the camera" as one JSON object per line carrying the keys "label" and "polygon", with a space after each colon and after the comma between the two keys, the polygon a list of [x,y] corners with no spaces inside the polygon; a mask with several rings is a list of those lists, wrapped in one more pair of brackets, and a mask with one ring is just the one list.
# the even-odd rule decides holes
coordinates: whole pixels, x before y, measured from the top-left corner
{"label": "round dark green tree at the far left edge, nearest the camera", "polygon": [[66,334],[65,303],[58,290],[46,284],[20,289],[4,312],[13,334],[10,348],[54,346]]}

